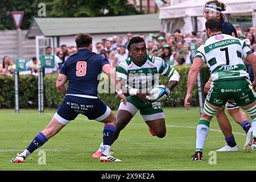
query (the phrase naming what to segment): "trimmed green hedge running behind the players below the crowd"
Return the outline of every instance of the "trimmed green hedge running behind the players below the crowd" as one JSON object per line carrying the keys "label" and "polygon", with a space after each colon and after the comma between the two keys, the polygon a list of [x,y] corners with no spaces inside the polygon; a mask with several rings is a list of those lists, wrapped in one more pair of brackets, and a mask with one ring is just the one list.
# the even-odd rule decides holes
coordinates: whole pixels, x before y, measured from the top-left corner
{"label": "trimmed green hedge running behind the players below the crowd", "polygon": [[[171,98],[164,102],[164,106],[183,106],[185,94],[187,92],[187,75],[190,66],[175,67],[176,71],[180,73],[180,82],[172,90]],[[209,71],[207,67],[203,67],[203,84],[209,78]],[[106,78],[102,76],[101,79]],[[44,106],[57,108],[63,101],[63,96],[56,90],[55,75],[46,75],[44,77]],[[161,76],[160,84],[168,84],[168,78]],[[119,99],[115,94],[99,93],[101,98],[111,109],[117,109]],[[14,77],[0,76],[0,108],[14,108]],[[20,108],[37,108],[38,107],[38,77],[32,75],[20,75],[19,78],[19,103]],[[197,86],[193,90],[193,106],[198,106]]]}

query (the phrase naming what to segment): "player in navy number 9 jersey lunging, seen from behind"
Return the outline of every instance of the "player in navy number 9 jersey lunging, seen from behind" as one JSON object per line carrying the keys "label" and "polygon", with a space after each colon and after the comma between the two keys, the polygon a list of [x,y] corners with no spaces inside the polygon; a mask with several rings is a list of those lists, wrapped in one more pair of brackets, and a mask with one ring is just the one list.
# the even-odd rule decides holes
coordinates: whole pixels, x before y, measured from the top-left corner
{"label": "player in navy number 9 jersey lunging, seen from behind", "polygon": [[[98,75],[101,71],[109,76],[116,73],[110,66],[109,61],[100,55],[92,52],[92,37],[87,34],[75,36],[77,53],[68,57],[63,65],[56,81],[56,88],[63,94],[64,101],[53,115],[51,122],[46,129],[28,145],[22,154],[11,159],[14,163],[23,163],[37,148],[41,147],[47,140],[57,133],[78,114],[83,114],[88,119],[94,119],[105,123],[103,130],[104,148],[100,160],[102,162],[120,162],[121,160],[110,155],[110,146],[115,134],[116,118],[112,110],[97,97]],[[114,78],[115,78],[114,77]],[[69,82],[68,88],[65,83]],[[115,86],[118,97],[126,104],[126,97],[123,95],[118,79],[110,79]]]}

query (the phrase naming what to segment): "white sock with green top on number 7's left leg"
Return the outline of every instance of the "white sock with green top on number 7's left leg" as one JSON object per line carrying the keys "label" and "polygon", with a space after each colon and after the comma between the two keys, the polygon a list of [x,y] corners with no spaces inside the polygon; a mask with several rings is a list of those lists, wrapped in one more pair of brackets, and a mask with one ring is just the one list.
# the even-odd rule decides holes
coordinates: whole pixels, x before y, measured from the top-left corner
{"label": "white sock with green top on number 7's left leg", "polygon": [[200,119],[196,129],[196,151],[202,151],[204,142],[209,133],[210,122],[205,119]]}

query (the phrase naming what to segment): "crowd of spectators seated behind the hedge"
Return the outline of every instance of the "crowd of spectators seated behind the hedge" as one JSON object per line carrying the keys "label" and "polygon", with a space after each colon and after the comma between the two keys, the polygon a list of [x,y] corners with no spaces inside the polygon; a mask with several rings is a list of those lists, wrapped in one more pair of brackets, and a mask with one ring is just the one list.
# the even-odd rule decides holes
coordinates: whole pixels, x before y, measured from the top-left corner
{"label": "crowd of spectators seated behind the hedge", "polygon": [[[256,55],[256,28],[250,27],[249,30],[242,31],[240,26],[236,26],[238,38],[245,40]],[[120,61],[129,57],[127,44],[133,36],[141,36],[147,45],[147,52],[149,55],[162,57],[164,61],[173,66],[192,64],[193,55],[191,53],[191,44],[196,44],[197,47],[207,39],[205,31],[191,32],[186,31],[181,34],[180,30],[175,30],[173,34],[159,32],[158,34],[140,34],[134,35],[131,32],[127,34],[125,40],[122,36],[112,36],[109,38],[102,38],[101,42],[96,43],[96,50],[94,52],[106,57],[114,68],[118,67]],[[45,69],[45,73],[59,72],[61,64],[74,53],[77,52],[76,47],[62,45],[55,48],[55,68]],[[46,54],[52,55],[51,47],[46,48]],[[247,65],[247,63],[245,63]],[[27,62],[27,69],[32,75],[38,75],[40,61],[36,57],[32,57],[30,63]],[[247,65],[250,72],[250,65]],[[13,75],[15,71],[14,60],[9,56],[3,57],[2,64],[0,64],[0,75]],[[250,74],[250,73],[249,73]]]}

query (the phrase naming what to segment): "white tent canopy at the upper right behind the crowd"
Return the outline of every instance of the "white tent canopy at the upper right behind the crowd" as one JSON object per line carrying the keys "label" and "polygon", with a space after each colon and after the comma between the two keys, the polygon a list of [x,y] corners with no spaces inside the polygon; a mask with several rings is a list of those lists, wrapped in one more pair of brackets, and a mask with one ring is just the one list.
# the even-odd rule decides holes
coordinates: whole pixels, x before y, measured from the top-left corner
{"label": "white tent canopy at the upper right behind the crowd", "polygon": [[[180,28],[185,30],[195,30],[195,19],[197,17],[198,30],[204,30],[205,19],[203,17],[203,7],[209,0],[188,0],[178,5],[161,7],[159,18],[162,19],[164,32],[172,32]],[[256,0],[221,0],[226,5],[225,14],[232,15],[252,15],[253,26],[256,26]]]}

